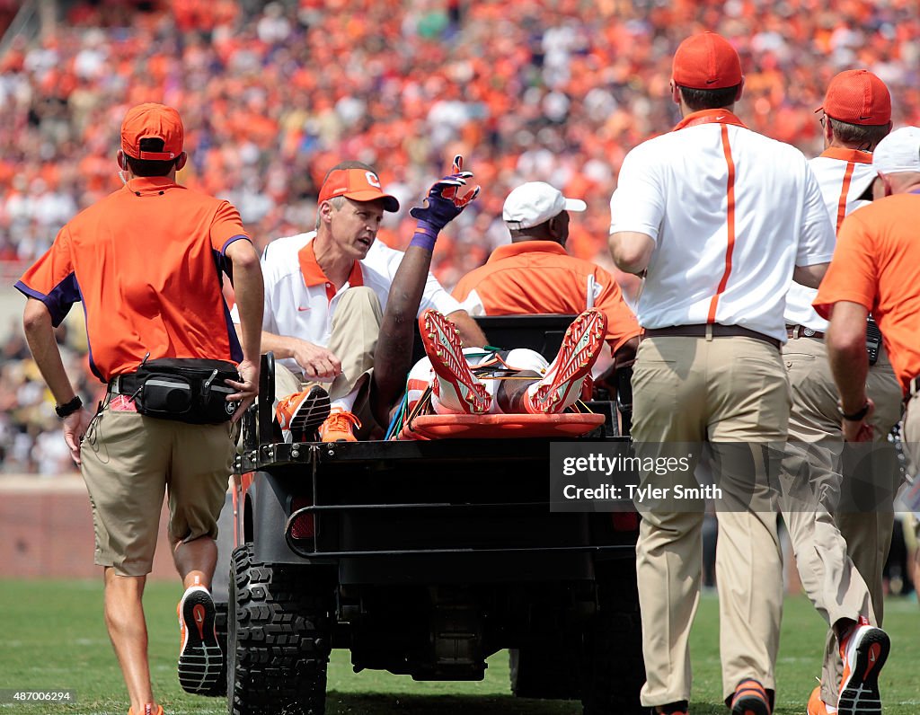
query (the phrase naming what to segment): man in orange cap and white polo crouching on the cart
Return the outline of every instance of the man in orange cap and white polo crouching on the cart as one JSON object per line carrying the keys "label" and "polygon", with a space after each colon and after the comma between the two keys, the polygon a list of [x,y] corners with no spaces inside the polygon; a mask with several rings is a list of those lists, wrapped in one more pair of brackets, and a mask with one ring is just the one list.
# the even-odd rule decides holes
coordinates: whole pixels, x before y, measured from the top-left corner
{"label": "man in orange cap and white polo crouching on the cart", "polygon": [[[342,162],[323,181],[316,231],[277,238],[265,248],[262,350],[277,358],[275,413],[282,429],[316,429],[316,415],[321,420],[327,403],[316,382],[331,383],[331,409],[319,425],[324,442],[351,442],[355,432],[363,436],[374,428],[370,370],[402,258],[374,246],[384,212],[398,210],[373,167]],[[476,323],[430,273],[420,313],[429,307],[456,321],[470,344],[485,344]]]}

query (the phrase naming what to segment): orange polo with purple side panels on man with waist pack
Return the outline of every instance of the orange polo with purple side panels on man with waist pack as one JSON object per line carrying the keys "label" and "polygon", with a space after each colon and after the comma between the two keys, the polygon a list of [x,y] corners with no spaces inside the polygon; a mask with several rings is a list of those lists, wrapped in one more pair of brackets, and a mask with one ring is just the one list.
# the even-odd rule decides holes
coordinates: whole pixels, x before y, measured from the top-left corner
{"label": "orange polo with purple side panels on man with waist pack", "polygon": [[89,363],[103,382],[149,353],[239,362],[243,353],[221,293],[227,246],[248,240],[229,203],[166,177],[132,179],[78,213],[16,287],[59,325],[86,312]]}

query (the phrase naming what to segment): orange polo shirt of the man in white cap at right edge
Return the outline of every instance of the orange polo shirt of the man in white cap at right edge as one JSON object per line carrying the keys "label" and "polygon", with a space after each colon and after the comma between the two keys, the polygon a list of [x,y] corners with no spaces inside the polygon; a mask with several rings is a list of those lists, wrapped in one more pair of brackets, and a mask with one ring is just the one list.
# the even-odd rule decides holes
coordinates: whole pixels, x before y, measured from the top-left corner
{"label": "orange polo shirt of the man in white cap at right edge", "polygon": [[864,306],[879,323],[903,389],[920,375],[920,195],[895,194],[849,214],[814,307],[831,317],[834,303]]}

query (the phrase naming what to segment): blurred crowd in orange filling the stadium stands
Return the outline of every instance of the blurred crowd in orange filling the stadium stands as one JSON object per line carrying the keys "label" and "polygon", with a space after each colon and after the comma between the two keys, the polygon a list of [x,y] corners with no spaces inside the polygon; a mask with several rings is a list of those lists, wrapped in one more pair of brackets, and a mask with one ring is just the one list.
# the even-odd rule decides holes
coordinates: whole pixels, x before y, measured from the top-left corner
{"label": "blurred crowd in orange filling the stadium stands", "polygon": [[[920,123],[915,0],[73,3],[56,29],[0,56],[0,261],[34,259],[117,189],[121,118],[161,101],[186,123],[180,182],[234,202],[259,247],[311,229],[328,167],[360,159],[401,200],[380,236],[402,248],[408,208],[460,153],[483,191],[438,241],[445,285],[507,242],[501,204],[524,180],[588,202],[569,249],[604,262],[622,159],[677,121],[673,50],[703,29],[742,55],[742,119],[809,156],[822,148],[814,110],[846,68],[891,87],[895,126]],[[29,451],[14,449],[19,435],[37,444],[47,425],[10,416],[29,370],[3,361],[9,469]]]}

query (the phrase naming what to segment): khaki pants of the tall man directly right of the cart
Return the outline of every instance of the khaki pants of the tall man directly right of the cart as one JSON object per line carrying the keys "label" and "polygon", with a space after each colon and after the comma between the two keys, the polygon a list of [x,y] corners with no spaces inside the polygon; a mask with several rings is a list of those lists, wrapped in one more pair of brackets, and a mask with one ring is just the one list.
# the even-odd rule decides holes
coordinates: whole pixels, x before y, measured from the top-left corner
{"label": "khaki pants of the tall man directly right of the cart", "polygon": [[[772,444],[776,453],[786,439],[789,393],[779,351],[741,337],[642,340],[633,395],[637,454],[667,454],[673,443],[708,442],[714,449],[723,490],[716,501],[723,694],[730,697],[749,677],[773,689],[783,598],[774,491],[779,465],[778,455],[770,458],[762,447]],[[732,468],[732,449],[746,453],[746,468]],[[642,479],[673,487],[675,478],[644,473]],[[646,706],[690,699],[688,638],[699,599],[704,511],[702,502],[696,511],[684,506],[668,512],[638,504]]]}

